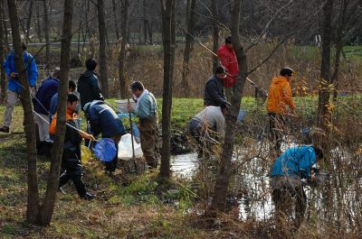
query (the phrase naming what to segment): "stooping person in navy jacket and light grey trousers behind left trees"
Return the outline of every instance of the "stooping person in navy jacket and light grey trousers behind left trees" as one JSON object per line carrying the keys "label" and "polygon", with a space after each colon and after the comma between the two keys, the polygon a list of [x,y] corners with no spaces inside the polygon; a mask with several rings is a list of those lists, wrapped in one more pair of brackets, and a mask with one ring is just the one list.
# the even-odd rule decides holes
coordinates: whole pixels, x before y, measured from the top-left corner
{"label": "stooping person in navy jacket and light grey trousers behind left trees", "polygon": [[38,124],[39,145],[45,156],[50,157],[52,140],[49,134],[49,109],[51,99],[58,92],[60,69],[55,68],[51,76],[43,80],[34,98],[35,122]]}

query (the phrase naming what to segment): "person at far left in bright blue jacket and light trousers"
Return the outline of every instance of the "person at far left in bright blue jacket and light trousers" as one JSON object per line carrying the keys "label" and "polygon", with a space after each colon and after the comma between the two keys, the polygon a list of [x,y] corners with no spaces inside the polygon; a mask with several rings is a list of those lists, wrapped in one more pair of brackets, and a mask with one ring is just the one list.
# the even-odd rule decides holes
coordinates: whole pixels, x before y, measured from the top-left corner
{"label": "person at far left in bright blue jacket and light trousers", "polygon": [[[26,69],[26,76],[29,81],[30,87],[35,87],[36,79],[38,78],[38,69],[36,67],[35,60],[32,54],[26,51],[26,45],[22,42],[22,47],[24,51],[24,64]],[[5,60],[5,73],[7,76],[7,90],[6,90],[6,109],[4,115],[4,124],[0,128],[0,132],[9,133],[10,124],[12,123],[14,106],[16,104],[17,98],[19,97],[23,86],[20,83],[18,78],[18,72],[15,68],[14,62],[14,51],[11,51],[10,54],[6,57]]]}

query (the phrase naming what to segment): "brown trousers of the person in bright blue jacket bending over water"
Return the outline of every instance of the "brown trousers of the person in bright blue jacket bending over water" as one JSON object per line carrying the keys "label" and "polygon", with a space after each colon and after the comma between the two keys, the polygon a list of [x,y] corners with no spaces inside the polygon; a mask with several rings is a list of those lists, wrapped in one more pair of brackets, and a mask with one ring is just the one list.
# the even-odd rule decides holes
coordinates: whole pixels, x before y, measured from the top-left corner
{"label": "brown trousers of the person in bright blue jacket bending over water", "polygon": [[275,205],[277,224],[282,225],[290,215],[288,212],[295,202],[294,226],[300,227],[307,207],[307,196],[302,186],[295,188],[274,188],[271,193]]}

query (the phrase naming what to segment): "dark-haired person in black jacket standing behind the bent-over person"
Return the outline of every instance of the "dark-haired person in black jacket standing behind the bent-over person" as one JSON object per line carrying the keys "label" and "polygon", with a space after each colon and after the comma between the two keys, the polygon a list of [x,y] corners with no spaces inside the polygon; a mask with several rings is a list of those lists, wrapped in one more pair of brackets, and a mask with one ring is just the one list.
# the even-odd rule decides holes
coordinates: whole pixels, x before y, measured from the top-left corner
{"label": "dark-haired person in black jacket standing behind the bent-over person", "polygon": [[85,62],[87,71],[78,79],[78,92],[81,96],[81,109],[85,104],[93,100],[104,100],[100,93],[100,84],[94,70],[97,68],[97,60],[88,59]]}

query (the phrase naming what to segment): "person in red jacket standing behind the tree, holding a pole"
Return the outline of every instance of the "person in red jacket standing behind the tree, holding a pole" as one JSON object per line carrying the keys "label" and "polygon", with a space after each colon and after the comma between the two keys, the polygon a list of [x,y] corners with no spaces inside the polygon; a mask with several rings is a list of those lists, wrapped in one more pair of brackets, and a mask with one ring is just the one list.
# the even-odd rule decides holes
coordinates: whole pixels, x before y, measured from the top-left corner
{"label": "person in red jacket standing behind the tree, holding a pole", "polygon": [[239,75],[239,67],[235,51],[233,51],[232,37],[225,38],[225,44],[217,50],[217,57],[220,64],[226,69],[227,77],[224,78],[225,95],[228,101],[233,95],[233,86],[236,84],[236,78]]}

